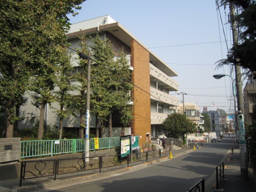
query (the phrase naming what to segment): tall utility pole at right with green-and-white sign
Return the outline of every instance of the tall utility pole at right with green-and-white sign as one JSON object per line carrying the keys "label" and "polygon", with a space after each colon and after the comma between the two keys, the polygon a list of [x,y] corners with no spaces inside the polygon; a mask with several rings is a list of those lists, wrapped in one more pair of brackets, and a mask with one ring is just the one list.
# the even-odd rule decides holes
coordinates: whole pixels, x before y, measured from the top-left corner
{"label": "tall utility pole at right with green-and-white sign", "polygon": [[[238,44],[238,31],[237,24],[234,20],[235,7],[232,2],[229,2],[229,8],[231,13],[231,24],[233,34],[233,46]],[[248,178],[248,162],[247,162],[247,149],[245,140],[245,123],[244,123],[244,102],[243,102],[243,88],[240,65],[235,65],[236,75],[236,90],[237,90],[237,109],[238,109],[238,128],[239,128],[239,144],[240,144],[240,172],[242,178]]]}

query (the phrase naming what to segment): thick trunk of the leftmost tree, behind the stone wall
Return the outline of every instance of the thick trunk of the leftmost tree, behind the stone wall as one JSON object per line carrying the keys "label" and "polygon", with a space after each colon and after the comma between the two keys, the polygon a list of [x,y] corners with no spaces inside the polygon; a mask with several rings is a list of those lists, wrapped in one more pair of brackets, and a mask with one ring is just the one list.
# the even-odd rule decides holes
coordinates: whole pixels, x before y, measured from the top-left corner
{"label": "thick trunk of the leftmost tree, behind the stone wall", "polygon": [[[5,130],[6,130],[6,138],[11,138],[13,137],[13,128],[14,124],[11,122],[12,114],[11,111],[12,109],[15,109],[15,105],[11,102],[9,102],[9,105],[7,108],[5,108]],[[4,134],[4,133],[3,133]]]}

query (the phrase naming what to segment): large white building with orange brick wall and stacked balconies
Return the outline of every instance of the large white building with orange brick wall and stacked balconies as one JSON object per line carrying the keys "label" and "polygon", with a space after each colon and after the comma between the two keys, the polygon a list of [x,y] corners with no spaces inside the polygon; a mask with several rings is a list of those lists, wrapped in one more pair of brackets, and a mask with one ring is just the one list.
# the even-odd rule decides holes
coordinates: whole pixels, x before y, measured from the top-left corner
{"label": "large white building with orange brick wall and stacked balconies", "polygon": [[[101,39],[110,40],[114,51],[123,48],[129,58],[132,82],[135,85],[132,91],[134,118],[131,127],[125,127],[125,134],[139,135],[140,145],[146,142],[150,143],[150,136],[159,132],[159,125],[169,114],[169,108],[179,105],[178,98],[169,94],[170,91],[178,90],[178,83],[171,78],[177,76],[176,72],[109,15],[71,25],[71,29],[67,33],[71,48],[78,47],[80,41],[78,36],[81,34],[90,35],[92,38],[98,34]],[[90,40],[88,44],[91,44]],[[74,62],[73,65],[79,71],[78,64]],[[38,110],[33,110],[34,113],[39,113]],[[48,109],[47,124],[58,126],[58,119],[54,117],[53,113],[51,109]],[[78,128],[79,121],[77,120],[76,118],[65,120],[64,129]],[[28,120],[25,121],[28,122]],[[21,124],[25,124],[25,122]],[[90,128],[94,127],[94,117],[91,117]],[[107,127],[104,128],[103,137],[108,137],[107,129]],[[121,135],[121,127],[113,127],[112,130],[113,137]]]}

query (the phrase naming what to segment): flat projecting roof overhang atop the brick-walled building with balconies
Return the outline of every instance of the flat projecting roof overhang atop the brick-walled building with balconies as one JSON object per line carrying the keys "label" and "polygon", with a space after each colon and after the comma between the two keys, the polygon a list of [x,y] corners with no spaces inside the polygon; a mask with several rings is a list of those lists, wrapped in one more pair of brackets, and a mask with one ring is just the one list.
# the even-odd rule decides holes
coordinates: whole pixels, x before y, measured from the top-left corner
{"label": "flat projecting roof overhang atop the brick-walled building with balconies", "polygon": [[120,25],[118,22],[110,23],[106,25],[99,25],[99,27],[94,27],[90,29],[85,29],[73,33],[68,33],[67,38],[73,39],[77,38],[80,34],[85,35],[92,35],[96,32],[109,32],[121,41],[123,41],[126,45],[131,47],[131,40],[134,39],[137,41],[140,45],[142,45],[145,49],[149,51],[149,61],[156,65],[157,68],[159,68],[161,71],[163,71],[165,74],[169,75],[169,77],[178,76],[178,74],[173,71],[168,65],[166,65],[160,58],[158,58],[152,51],[150,51],[148,48],[146,48],[145,45],[143,45],[141,42],[139,42],[138,39],[136,39],[128,30],[126,30],[122,25]]}

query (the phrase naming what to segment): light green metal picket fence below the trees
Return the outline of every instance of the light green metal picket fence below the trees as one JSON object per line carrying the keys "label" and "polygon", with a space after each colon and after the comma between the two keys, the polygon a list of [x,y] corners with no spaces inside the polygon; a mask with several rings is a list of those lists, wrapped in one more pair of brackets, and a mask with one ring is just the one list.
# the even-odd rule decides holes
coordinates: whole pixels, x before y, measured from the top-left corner
{"label": "light green metal picket fence below the trees", "polygon": [[[99,149],[120,146],[120,137],[99,138]],[[94,149],[94,138],[90,139],[90,150]],[[85,151],[85,139],[21,141],[21,157],[53,156],[55,154]]]}

